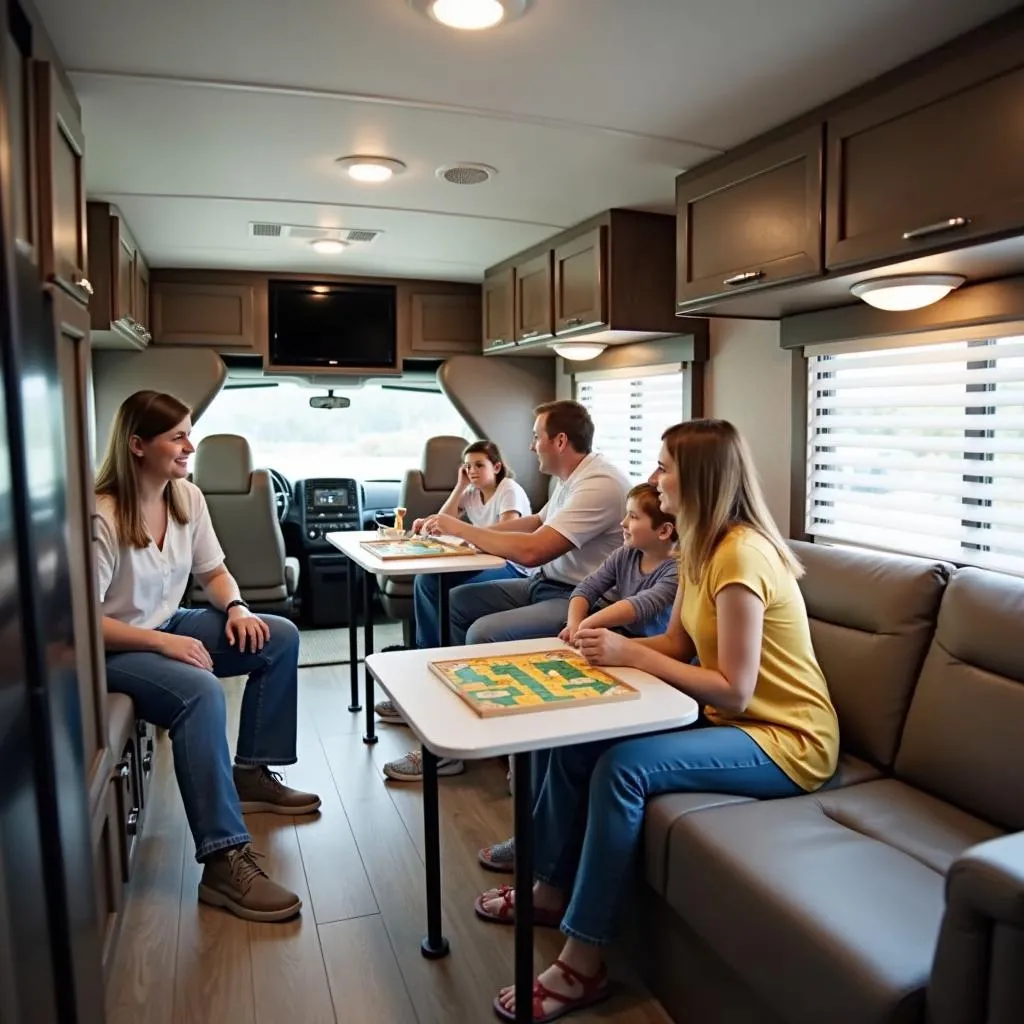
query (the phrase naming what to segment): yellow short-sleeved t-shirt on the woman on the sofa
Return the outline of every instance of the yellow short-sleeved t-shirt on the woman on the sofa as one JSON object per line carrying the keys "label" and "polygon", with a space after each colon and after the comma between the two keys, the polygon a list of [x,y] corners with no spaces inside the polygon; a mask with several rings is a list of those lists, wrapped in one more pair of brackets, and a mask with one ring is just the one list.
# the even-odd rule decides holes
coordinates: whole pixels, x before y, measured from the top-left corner
{"label": "yellow short-sleeved t-shirt on the woman on the sofa", "polygon": [[750,526],[733,527],[712,556],[703,579],[683,587],[683,628],[705,669],[719,671],[715,598],[723,587],[741,584],[765,606],[761,668],[754,695],[738,714],[705,709],[715,725],[734,725],[807,791],[836,771],[839,720],[828,686],[814,656],[807,608],[793,573],[778,552]]}

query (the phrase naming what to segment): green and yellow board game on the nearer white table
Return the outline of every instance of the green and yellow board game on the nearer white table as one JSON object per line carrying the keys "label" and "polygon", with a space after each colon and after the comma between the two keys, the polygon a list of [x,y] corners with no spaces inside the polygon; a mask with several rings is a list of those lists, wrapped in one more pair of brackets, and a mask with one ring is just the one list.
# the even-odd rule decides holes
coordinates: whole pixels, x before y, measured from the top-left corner
{"label": "green and yellow board game on the nearer white table", "polygon": [[430,671],[481,718],[640,696],[629,683],[564,649],[431,662]]}

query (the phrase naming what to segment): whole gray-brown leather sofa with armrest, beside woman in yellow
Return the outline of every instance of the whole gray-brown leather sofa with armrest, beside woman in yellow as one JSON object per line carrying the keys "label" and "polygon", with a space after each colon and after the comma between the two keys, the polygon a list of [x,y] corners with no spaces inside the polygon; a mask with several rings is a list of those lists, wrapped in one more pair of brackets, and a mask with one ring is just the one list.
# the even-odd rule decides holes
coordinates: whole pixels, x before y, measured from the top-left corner
{"label": "whole gray-brown leather sofa with armrest, beside woman in yellow", "polygon": [[680,1022],[1024,1022],[1024,580],[794,544],[837,778],[651,802],[637,963]]}

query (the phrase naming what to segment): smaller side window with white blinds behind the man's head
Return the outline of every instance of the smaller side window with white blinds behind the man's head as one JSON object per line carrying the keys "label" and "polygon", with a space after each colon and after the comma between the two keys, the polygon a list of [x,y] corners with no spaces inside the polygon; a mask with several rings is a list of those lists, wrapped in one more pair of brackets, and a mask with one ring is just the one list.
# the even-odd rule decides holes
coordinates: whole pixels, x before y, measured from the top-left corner
{"label": "smaller side window with white blinds behind the man's head", "polygon": [[634,482],[657,467],[662,434],[688,418],[681,364],[578,374],[577,401],[594,421],[594,451]]}

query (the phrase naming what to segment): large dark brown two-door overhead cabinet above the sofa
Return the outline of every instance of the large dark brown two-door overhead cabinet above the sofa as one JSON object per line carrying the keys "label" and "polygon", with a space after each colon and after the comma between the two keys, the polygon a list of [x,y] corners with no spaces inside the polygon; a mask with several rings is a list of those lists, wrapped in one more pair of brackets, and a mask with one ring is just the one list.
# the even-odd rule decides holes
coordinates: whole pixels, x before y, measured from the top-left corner
{"label": "large dark brown two-door overhead cabinet above the sofa", "polygon": [[680,175],[676,312],[849,302],[851,274],[937,253],[970,276],[1024,232],[1024,15],[997,28]]}

